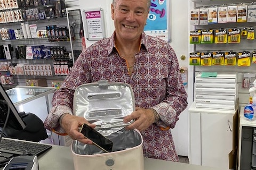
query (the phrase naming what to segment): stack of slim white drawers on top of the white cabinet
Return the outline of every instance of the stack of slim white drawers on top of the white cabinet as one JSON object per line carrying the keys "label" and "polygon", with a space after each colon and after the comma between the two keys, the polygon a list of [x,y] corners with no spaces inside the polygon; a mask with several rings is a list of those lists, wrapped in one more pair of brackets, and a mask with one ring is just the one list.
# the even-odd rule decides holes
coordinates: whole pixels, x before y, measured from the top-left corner
{"label": "stack of slim white drawers on top of the white cabinet", "polygon": [[203,73],[195,77],[195,107],[234,111],[238,98],[237,72],[217,72],[216,77],[203,77]]}

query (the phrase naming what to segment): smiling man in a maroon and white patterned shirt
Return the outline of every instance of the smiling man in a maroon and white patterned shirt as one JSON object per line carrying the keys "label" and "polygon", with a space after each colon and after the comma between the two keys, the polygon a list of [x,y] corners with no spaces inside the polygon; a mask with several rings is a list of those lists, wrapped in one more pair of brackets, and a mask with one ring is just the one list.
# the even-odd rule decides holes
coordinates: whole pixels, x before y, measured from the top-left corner
{"label": "smiling man in a maroon and white patterned shirt", "polygon": [[143,32],[150,4],[151,0],[113,1],[113,35],[94,43],[77,58],[54,93],[52,111],[44,122],[47,129],[92,144],[78,132],[78,127],[86,123],[94,128],[95,124],[73,115],[76,87],[103,79],[125,82],[132,86],[136,110],[124,117],[124,122],[135,120],[126,129],[141,132],[144,156],[179,161],[171,128],[187,107],[187,93],[172,47]]}

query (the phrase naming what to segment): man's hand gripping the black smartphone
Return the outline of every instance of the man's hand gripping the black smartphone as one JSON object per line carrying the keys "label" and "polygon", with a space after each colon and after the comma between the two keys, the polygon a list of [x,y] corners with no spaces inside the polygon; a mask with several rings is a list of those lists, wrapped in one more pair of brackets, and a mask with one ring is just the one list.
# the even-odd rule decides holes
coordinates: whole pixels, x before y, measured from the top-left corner
{"label": "man's hand gripping the black smartphone", "polygon": [[86,123],[92,128],[95,128],[94,124],[90,124],[84,117],[74,116],[70,114],[62,115],[61,127],[68,133],[70,138],[78,140],[85,144],[92,144],[90,139],[86,139],[84,135],[78,132],[78,128],[82,126],[82,124]]}

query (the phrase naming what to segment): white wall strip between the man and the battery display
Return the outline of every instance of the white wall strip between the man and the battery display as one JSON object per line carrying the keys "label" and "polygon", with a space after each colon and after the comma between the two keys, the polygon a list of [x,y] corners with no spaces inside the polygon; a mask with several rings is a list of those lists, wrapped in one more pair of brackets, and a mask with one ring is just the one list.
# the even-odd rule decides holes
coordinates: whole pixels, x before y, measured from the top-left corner
{"label": "white wall strip between the man and the battery display", "polygon": [[[188,8],[189,1],[187,0],[172,0],[171,1],[171,43],[170,45],[175,50],[178,57],[180,67],[188,67]],[[181,5],[182,4],[182,5]],[[180,57],[186,56],[186,60],[182,61]],[[188,72],[191,73],[191,72]],[[192,81],[193,82],[193,81]],[[193,87],[188,81],[188,87]],[[190,101],[189,101],[190,106]],[[188,108],[183,111],[175,128],[172,130],[175,148],[178,155],[188,156]]]}

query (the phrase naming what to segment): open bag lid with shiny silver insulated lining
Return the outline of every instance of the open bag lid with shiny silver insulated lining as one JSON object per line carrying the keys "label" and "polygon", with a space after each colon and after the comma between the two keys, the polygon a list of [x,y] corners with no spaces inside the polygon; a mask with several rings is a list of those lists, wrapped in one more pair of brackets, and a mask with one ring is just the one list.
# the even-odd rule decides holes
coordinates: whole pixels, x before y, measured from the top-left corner
{"label": "open bag lid with shiny silver insulated lining", "polygon": [[74,94],[74,115],[96,124],[95,129],[123,128],[123,118],[135,111],[132,87],[123,82],[100,80],[78,86]]}

